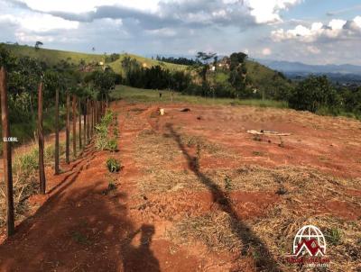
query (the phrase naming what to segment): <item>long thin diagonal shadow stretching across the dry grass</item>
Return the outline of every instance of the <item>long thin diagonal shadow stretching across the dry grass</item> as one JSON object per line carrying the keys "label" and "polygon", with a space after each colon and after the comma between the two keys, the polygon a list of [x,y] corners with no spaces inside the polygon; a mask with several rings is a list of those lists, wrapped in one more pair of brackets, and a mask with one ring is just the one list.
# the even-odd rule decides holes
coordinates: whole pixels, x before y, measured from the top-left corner
{"label": "long thin diagonal shadow stretching across the dry grass", "polygon": [[249,250],[253,249],[258,255],[257,258],[255,258],[255,265],[258,270],[274,272],[282,271],[281,267],[279,267],[276,260],[273,258],[273,254],[264,244],[264,241],[257,237],[255,232],[252,231],[238,216],[236,210],[227,197],[227,194],[223,192],[221,187],[218,186],[211,178],[201,172],[198,162],[199,158],[191,156],[186,150],[186,147],[181,141],[180,134],[173,129],[172,124],[166,123],[166,128],[170,131],[171,137],[177,142],[182,154],[187,159],[191,171],[199,178],[199,181],[202,184],[208,187],[208,190],[212,194],[213,202],[218,204],[218,208],[221,211],[228,213],[233,219],[232,222],[234,223],[232,223],[231,228],[242,242],[242,254],[249,254]]}

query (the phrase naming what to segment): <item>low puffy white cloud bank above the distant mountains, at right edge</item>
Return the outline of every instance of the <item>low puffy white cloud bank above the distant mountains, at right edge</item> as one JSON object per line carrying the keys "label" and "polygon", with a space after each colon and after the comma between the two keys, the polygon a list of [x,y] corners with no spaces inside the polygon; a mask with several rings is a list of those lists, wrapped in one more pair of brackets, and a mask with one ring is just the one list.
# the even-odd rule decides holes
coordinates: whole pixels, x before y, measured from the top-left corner
{"label": "low puffy white cloud bank above the distant mountains, at right edge", "polygon": [[319,39],[338,39],[359,35],[361,32],[361,17],[357,16],[352,21],[333,19],[328,25],[312,23],[310,27],[297,25],[294,29],[284,31],[279,29],[271,32],[273,41],[297,40],[314,42]]}

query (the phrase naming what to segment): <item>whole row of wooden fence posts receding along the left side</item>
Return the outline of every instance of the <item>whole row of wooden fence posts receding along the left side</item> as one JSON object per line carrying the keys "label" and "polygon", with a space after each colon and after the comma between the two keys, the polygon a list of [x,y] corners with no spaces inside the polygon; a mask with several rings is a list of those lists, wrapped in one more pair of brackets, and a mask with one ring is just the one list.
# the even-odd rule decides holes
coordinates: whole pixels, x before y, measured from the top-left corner
{"label": "whole row of wooden fence posts receding along the left side", "polygon": [[[9,123],[9,109],[7,99],[7,78],[6,69],[0,69],[0,98],[1,98],[1,114],[2,114],[2,129],[3,129],[3,153],[4,153],[4,175],[6,186],[6,231],[7,236],[14,234],[14,191],[13,191],[13,164],[11,151],[11,135]],[[103,101],[95,101],[87,98],[83,102],[83,111],[81,100],[77,95],[72,95],[72,141],[73,141],[73,155],[77,158],[77,100],[79,101],[79,150],[86,147],[94,135],[95,126],[100,121],[105,113],[103,108]],[[43,83],[38,85],[38,146],[39,146],[39,193],[46,194],[46,177],[44,167],[44,135],[43,135]],[[83,114],[82,114],[83,113]],[[83,129],[81,127],[81,118],[83,116]],[[54,175],[60,174],[60,125],[59,125],[59,89],[55,93],[55,152],[54,152]],[[82,131],[83,130],[83,131]],[[83,140],[82,141],[82,137]],[[66,163],[70,163],[70,95],[66,95]]]}

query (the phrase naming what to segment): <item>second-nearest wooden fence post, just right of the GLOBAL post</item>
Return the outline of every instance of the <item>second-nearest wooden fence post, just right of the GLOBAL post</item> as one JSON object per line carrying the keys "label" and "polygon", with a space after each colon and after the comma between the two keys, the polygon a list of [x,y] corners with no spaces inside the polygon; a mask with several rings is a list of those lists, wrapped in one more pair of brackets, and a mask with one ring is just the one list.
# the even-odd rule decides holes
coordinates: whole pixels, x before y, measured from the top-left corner
{"label": "second-nearest wooden fence post, just right of the GLOBAL post", "polygon": [[38,137],[40,194],[45,195],[44,135],[42,131],[42,81],[38,87]]}

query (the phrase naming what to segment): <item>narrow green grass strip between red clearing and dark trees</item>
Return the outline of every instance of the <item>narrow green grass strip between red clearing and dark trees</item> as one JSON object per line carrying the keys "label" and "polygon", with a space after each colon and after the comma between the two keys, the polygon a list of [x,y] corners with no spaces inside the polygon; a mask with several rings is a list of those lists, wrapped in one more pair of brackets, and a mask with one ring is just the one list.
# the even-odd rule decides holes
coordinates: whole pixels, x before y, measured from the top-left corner
{"label": "narrow green grass strip between red clearing and dark trees", "polygon": [[[162,99],[159,93],[162,92]],[[189,103],[189,104],[217,104],[217,105],[254,105],[261,107],[287,108],[288,104],[282,101],[257,100],[257,99],[232,99],[211,98],[195,95],[181,95],[173,92],[171,100],[170,91],[139,89],[130,86],[116,86],[111,97],[114,100],[125,99],[127,102],[136,103]],[[171,102],[172,101],[172,102]]]}

